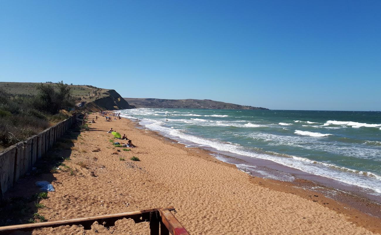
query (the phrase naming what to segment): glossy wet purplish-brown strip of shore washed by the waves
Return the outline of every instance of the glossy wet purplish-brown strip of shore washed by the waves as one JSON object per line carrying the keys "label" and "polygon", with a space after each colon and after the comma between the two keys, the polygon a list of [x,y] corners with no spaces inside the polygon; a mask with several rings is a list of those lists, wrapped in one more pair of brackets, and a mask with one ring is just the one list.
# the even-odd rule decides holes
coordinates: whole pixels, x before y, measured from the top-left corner
{"label": "glossy wet purplish-brown strip of shore washed by the waves", "polygon": [[[256,173],[255,170],[251,170],[250,165],[248,165],[247,167],[242,167],[243,169],[246,168],[245,170],[239,169],[243,172],[249,173],[253,177],[273,179],[275,181],[288,183],[298,182],[295,184],[295,186],[306,188],[314,192],[323,193],[326,197],[340,201],[341,203],[348,204],[348,206],[354,207],[355,209],[359,209],[360,211],[365,211],[366,209],[368,214],[371,214],[371,216],[375,216],[381,219],[381,196],[367,193],[366,191],[364,191],[363,188],[360,188],[359,186],[349,185],[346,183],[338,182],[337,180],[333,180],[331,178],[326,178],[323,176],[303,172],[298,169],[294,169],[276,162],[272,162],[271,160],[257,159],[244,155],[234,154],[232,152],[219,151],[217,149],[214,149],[213,147],[197,146],[197,144],[191,141],[187,141],[180,138],[172,139],[166,133],[162,133],[157,130],[151,130],[149,128],[146,128],[145,126],[142,126],[138,123],[141,120],[136,120],[134,118],[129,117],[123,118],[126,118],[131,122],[135,123],[137,128],[153,131],[158,135],[167,138],[169,141],[176,141],[179,144],[183,144],[186,148],[198,148],[203,149],[205,151],[209,151],[210,155],[217,155],[215,156],[216,159],[226,162],[228,164],[232,164],[234,165],[234,167],[237,167],[237,169],[239,169],[237,165],[250,164],[256,167],[259,166],[260,170],[266,171],[266,173],[274,174],[274,176],[280,176],[279,178],[282,177],[283,173],[287,173],[293,176],[293,180],[279,180],[271,177],[263,177],[263,175],[261,175],[260,173]],[[375,208],[372,208],[369,211],[367,206],[365,206],[364,204],[372,204],[373,206],[375,206]]]}

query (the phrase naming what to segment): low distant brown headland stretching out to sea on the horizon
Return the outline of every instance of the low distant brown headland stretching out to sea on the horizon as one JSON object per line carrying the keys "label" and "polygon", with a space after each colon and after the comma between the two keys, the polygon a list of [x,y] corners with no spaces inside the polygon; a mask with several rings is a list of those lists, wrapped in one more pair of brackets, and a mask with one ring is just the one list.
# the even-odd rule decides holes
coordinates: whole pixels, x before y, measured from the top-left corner
{"label": "low distant brown headland stretching out to sea on the horizon", "polygon": [[124,98],[136,108],[166,108],[166,109],[266,109],[247,105],[231,104],[215,100],[198,99],[155,99],[155,98]]}

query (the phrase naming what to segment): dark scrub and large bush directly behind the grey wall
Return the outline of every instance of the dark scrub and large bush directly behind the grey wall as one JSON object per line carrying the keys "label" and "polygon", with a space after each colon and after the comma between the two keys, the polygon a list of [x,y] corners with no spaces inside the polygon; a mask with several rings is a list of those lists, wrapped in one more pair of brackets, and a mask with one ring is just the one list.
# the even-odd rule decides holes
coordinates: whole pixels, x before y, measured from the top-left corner
{"label": "dark scrub and large bush directly behind the grey wall", "polygon": [[[10,93],[0,86],[0,149],[35,135],[70,113],[62,107],[73,107],[75,98],[69,85],[36,84],[32,94]],[[14,92],[14,91],[13,91]]]}

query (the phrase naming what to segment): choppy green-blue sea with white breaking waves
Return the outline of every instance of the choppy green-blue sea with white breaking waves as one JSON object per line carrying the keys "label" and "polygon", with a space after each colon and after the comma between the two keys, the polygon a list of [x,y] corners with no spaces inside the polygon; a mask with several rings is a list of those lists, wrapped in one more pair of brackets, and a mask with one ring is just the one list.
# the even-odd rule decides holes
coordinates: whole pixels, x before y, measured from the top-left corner
{"label": "choppy green-blue sea with white breaking waves", "polygon": [[264,178],[293,181],[295,175],[271,173],[255,159],[381,195],[381,112],[141,108],[120,113],[187,147],[214,151],[220,160],[241,158],[244,163],[235,162],[239,169]]}

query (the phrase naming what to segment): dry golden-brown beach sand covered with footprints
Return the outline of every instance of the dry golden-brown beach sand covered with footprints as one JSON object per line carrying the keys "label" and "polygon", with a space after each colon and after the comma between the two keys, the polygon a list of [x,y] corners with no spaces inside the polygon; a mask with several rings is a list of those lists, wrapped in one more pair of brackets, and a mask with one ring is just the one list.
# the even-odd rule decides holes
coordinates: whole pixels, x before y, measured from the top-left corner
{"label": "dry golden-brown beach sand covered with footprints", "polygon": [[[93,117],[95,115],[90,115],[90,120]],[[56,192],[49,193],[49,198],[41,201],[47,208],[38,212],[51,221],[173,206],[176,218],[194,235],[380,232],[378,219],[373,218],[368,223],[367,215],[351,209],[347,209],[350,213],[339,213],[337,211],[344,209],[343,206],[322,195],[304,191],[303,196],[292,189],[282,191],[279,189],[282,182],[253,178],[214,159],[207,151],[185,148],[134,125],[126,119],[105,122],[100,118],[92,123],[92,129],[83,132],[75,143],[78,151],[72,151],[71,160],[64,162],[74,169],[75,175],[70,175],[69,171],[54,173]],[[138,147],[128,152],[113,147],[109,142],[112,135],[106,133],[110,127],[122,135],[125,133]],[[92,152],[98,147],[99,152]],[[112,154],[117,149],[121,151]],[[132,156],[141,161],[130,160]],[[125,161],[119,160],[120,157]],[[87,167],[80,167],[79,162]],[[20,190],[22,184],[18,186]],[[314,194],[320,198],[308,199]],[[330,207],[324,206],[328,201]],[[148,223],[134,224],[126,220],[118,221],[109,229],[94,224],[93,229],[85,233],[77,226],[33,232],[148,233]]]}

